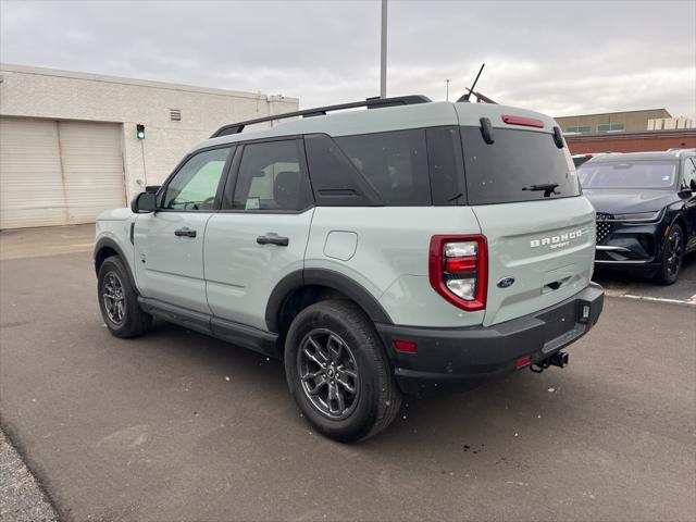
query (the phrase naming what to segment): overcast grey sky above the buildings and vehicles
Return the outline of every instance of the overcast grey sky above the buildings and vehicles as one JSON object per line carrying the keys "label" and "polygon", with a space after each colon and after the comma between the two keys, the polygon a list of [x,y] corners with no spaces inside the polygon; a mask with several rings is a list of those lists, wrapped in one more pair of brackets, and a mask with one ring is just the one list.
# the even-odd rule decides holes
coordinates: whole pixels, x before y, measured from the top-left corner
{"label": "overcast grey sky above the buildings and vehicles", "polygon": [[[378,1],[0,2],[0,60],[300,105],[380,92]],[[696,0],[389,2],[389,96],[490,98],[555,116],[696,116]]]}

